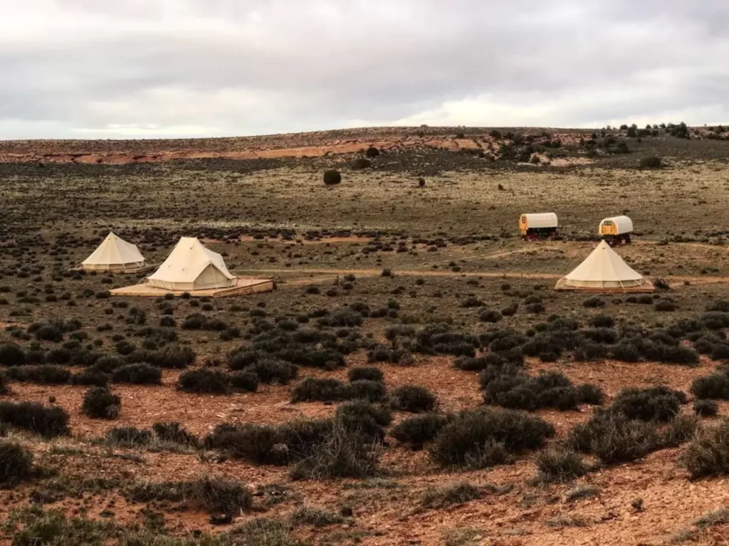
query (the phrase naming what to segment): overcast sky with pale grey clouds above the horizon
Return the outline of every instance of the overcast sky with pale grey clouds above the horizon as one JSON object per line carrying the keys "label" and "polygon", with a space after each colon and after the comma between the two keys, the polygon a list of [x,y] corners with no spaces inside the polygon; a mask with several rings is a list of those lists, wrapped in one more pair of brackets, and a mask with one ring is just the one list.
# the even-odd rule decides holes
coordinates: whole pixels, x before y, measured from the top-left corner
{"label": "overcast sky with pale grey clouds above the horizon", "polygon": [[0,139],[729,123],[729,0],[0,0]]}

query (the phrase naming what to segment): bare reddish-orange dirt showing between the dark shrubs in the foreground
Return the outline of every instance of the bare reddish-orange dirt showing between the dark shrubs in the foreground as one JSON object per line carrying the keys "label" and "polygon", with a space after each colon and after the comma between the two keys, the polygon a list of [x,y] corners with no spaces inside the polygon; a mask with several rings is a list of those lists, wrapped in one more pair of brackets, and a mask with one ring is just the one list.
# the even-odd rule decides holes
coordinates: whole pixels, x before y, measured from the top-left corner
{"label": "bare reddish-orange dirt showing between the dark shrubs in the foreground", "polygon": [[[362,364],[363,354],[351,356],[349,364]],[[418,357],[416,365],[400,367],[382,365],[386,382],[390,387],[403,384],[420,384],[437,394],[442,410],[456,411],[480,404],[475,373],[455,370],[452,359],[447,357]],[[664,384],[674,389],[686,390],[691,381],[706,375],[715,363],[703,360],[700,367],[687,368],[669,364],[626,364],[603,362],[593,364],[539,364],[530,362],[529,368],[560,370],[575,383],[597,383],[609,397],[615,396],[624,386],[650,386]],[[200,396],[176,391],[174,383],[178,372],[166,371],[163,386],[115,386],[122,396],[122,413],[116,421],[89,419],[79,411],[84,389],[74,386],[38,386],[12,384],[12,398],[48,402],[50,395],[56,403],[71,413],[71,429],[74,440],[61,440],[59,445],[77,445],[83,437],[90,439],[104,434],[112,426],[150,426],[155,421],[181,421],[191,432],[206,434],[214,425],[224,421],[243,423],[280,423],[297,416],[327,416],[335,409],[322,403],[289,403],[289,387],[264,386],[257,393],[232,396]],[[303,370],[302,375],[318,375]],[[346,370],[327,373],[328,377],[346,378]],[[729,404],[721,405],[725,414]],[[564,437],[574,424],[590,415],[589,407],[580,412],[542,410],[539,416],[546,418],[558,429],[558,437]],[[396,416],[395,421],[405,418]],[[36,453],[47,450],[47,445],[35,446]],[[102,447],[85,444],[85,454],[65,459],[64,475],[89,477],[117,477],[127,480],[185,480],[204,473],[225,475],[243,480],[251,485],[265,483],[290,483],[287,469],[261,467],[243,461],[225,461],[220,464],[200,462],[195,454],[139,453],[143,462],[126,461],[104,454]],[[130,453],[115,449],[115,453]],[[448,474],[432,464],[426,451],[413,452],[391,446],[383,456],[383,472],[401,486],[396,490],[346,489],[351,480],[336,482],[292,482],[296,494],[317,506],[336,507],[354,503],[355,527],[351,530],[376,530],[381,536],[363,539],[367,545],[436,545],[443,543],[443,532],[448,529],[474,528],[482,534],[478,544],[488,545],[654,545],[662,544],[684,529],[690,522],[713,510],[729,507],[729,489],[725,480],[687,480],[687,472],[677,465],[680,449],[660,451],[644,461],[625,464],[592,473],[566,485],[534,486],[528,481],[536,470],[533,457],[520,459],[516,464],[475,472]],[[448,510],[418,510],[418,499],[425,488],[467,481],[476,485],[514,484],[507,494],[487,494],[483,499],[451,507]],[[578,484],[599,488],[599,493],[588,499],[567,501],[566,492]],[[24,501],[10,502],[12,493],[0,492],[5,506]],[[644,512],[636,512],[631,502],[643,499]],[[13,497],[15,498],[15,497]],[[142,505],[128,505],[120,497],[111,494],[99,499],[73,501],[87,503],[90,514],[104,510],[114,501],[117,520],[135,520],[140,517]],[[64,501],[61,506],[66,506]],[[66,504],[64,504],[66,503]],[[75,506],[75,504],[73,504]],[[285,515],[290,504],[275,507],[266,515]],[[168,524],[179,530],[195,527],[208,529],[206,515],[190,510],[169,513]],[[242,520],[253,517],[243,516]],[[548,521],[555,518],[582,518],[584,526],[554,528]],[[239,522],[238,522],[239,523]],[[220,528],[218,528],[220,529]],[[224,528],[225,529],[225,528]],[[701,539],[703,544],[718,544],[721,527]],[[342,530],[342,529],[340,529]],[[347,529],[344,529],[346,531]],[[332,528],[324,531],[332,531]],[[324,531],[316,531],[320,535]],[[303,531],[305,534],[311,531]],[[306,536],[306,535],[303,535]]]}

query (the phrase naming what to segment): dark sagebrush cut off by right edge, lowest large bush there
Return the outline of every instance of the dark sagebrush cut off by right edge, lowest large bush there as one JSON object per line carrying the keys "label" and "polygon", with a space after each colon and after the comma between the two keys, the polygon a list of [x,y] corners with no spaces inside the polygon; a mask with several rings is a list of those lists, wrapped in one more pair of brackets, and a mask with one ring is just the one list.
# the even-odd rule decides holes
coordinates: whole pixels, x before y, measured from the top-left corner
{"label": "dark sagebrush cut off by right edge, lowest large bush there", "polygon": [[698,432],[687,445],[682,463],[692,478],[729,474],[729,419]]}

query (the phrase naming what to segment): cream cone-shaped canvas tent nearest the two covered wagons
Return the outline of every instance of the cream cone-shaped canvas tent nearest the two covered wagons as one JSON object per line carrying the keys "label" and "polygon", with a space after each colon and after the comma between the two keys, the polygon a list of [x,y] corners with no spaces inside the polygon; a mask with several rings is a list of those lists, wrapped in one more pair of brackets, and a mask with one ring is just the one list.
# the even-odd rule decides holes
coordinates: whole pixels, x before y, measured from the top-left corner
{"label": "cream cone-shaped canvas tent nearest the two covered wagons", "polygon": [[652,292],[653,285],[626,264],[606,241],[600,241],[584,262],[557,281],[555,289]]}

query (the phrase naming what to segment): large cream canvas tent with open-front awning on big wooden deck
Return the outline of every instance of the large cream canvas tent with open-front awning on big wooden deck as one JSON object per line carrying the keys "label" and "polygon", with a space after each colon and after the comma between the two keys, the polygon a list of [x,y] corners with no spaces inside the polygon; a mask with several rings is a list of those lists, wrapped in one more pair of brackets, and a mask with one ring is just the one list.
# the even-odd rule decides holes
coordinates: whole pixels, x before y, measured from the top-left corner
{"label": "large cream canvas tent with open-front awning on big wooden deck", "polygon": [[195,237],[182,237],[147,284],[168,290],[207,290],[234,286],[236,278],[223,257],[206,249]]}

